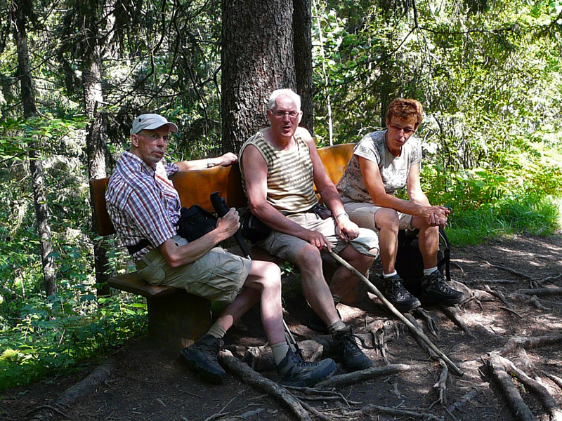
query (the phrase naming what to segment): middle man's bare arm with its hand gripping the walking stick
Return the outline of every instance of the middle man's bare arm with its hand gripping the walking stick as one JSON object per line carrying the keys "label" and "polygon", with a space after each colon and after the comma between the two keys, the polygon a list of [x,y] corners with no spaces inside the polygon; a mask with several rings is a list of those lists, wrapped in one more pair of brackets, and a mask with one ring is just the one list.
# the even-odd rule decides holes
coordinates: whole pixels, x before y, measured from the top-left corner
{"label": "middle man's bare arm with its hand gripping the walking stick", "polygon": [[329,243],[322,234],[301,227],[267,202],[268,167],[258,149],[252,145],[247,146],[241,159],[251,213],[276,231],[299,237],[318,248],[329,248]]}

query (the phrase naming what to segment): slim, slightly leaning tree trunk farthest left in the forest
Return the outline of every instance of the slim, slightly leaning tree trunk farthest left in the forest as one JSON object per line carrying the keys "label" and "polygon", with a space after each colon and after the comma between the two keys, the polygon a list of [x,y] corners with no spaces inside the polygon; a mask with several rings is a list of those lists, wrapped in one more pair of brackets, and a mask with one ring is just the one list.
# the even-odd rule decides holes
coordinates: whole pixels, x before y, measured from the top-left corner
{"label": "slim, slightly leaning tree trunk farthest left in the forest", "polygon": [[[23,8],[23,1],[15,1],[13,7],[15,21],[14,37],[18,50],[18,77],[21,83],[21,95],[23,105],[23,116],[29,119],[37,115],[33,81],[31,78],[30,52],[27,48],[27,16]],[[41,243],[41,264],[43,266],[43,277],[45,292],[47,296],[55,295],[57,292],[57,276],[55,260],[53,258],[53,243],[51,241],[51,225],[49,225],[49,213],[47,199],[44,192],[43,165],[37,154],[36,145],[30,145],[30,172],[33,188],[33,200],[35,204],[35,215],[37,217],[37,232]]]}

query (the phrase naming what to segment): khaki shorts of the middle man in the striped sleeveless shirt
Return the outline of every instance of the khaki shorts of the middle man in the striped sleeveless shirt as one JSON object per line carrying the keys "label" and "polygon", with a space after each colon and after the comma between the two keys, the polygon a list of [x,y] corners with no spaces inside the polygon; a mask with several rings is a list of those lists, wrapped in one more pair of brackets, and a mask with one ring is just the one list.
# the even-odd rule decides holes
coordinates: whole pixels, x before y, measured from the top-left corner
{"label": "khaki shorts of the middle man in the striped sleeveless shirt", "polygon": [[[346,243],[336,232],[336,223],[333,218],[323,220],[315,213],[294,213],[287,215],[287,218],[301,225],[301,227],[311,231],[320,232],[329,241],[332,251],[339,253],[344,250],[349,243]],[[303,247],[310,244],[308,241],[299,237],[284,234],[273,230],[269,236],[257,243],[258,246],[266,250],[271,255],[284,260],[294,262],[297,253]]]}

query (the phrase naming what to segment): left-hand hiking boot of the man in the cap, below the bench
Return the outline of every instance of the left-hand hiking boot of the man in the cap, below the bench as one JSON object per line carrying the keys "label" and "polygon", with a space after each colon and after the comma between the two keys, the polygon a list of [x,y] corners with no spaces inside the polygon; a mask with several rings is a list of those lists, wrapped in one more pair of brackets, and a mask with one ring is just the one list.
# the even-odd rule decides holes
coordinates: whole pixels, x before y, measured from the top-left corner
{"label": "left-hand hiking boot of the man in the cap, below the bench", "polygon": [[226,375],[225,370],[218,365],[218,352],[223,345],[222,339],[204,335],[190,347],[182,349],[181,355],[203,380],[220,385]]}

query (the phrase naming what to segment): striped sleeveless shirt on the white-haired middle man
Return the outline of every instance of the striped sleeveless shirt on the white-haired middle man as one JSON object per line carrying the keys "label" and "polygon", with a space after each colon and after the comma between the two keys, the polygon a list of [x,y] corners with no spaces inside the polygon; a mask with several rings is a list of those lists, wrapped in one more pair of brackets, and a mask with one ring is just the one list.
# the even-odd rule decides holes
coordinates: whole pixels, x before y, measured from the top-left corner
{"label": "striped sleeveless shirt on the white-haired middle man", "polygon": [[[308,145],[300,135],[295,135],[296,147],[288,151],[280,151],[264,138],[263,130],[244,142],[240,149],[240,156],[244,154],[244,149],[248,145],[253,145],[266,160],[268,203],[281,212],[298,213],[312,208],[318,200],[313,189],[313,164]],[[247,195],[242,160],[240,159],[239,162],[242,187],[244,194]]]}

